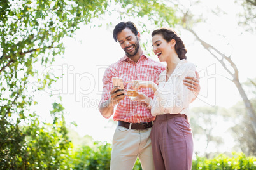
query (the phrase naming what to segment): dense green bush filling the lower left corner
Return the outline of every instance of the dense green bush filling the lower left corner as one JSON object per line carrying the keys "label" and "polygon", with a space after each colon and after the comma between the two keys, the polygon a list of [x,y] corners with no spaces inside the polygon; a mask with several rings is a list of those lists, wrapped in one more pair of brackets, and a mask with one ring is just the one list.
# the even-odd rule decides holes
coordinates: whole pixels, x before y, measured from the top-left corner
{"label": "dense green bush filling the lower left corner", "polygon": [[11,128],[18,128],[16,131],[1,124],[1,137],[4,130],[13,136],[1,138],[0,169],[69,169],[73,145],[67,136],[63,114],[62,106],[53,103],[52,124],[39,121],[36,114],[25,119],[28,124],[10,124]]}

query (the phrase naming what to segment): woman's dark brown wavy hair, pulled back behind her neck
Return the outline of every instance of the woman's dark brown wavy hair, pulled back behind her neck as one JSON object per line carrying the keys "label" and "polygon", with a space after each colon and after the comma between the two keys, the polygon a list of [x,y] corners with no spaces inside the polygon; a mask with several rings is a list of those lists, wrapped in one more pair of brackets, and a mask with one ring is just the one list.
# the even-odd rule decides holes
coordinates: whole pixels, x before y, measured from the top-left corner
{"label": "woman's dark brown wavy hair, pulled back behind her neck", "polygon": [[152,37],[160,34],[162,37],[167,41],[170,42],[172,39],[175,39],[176,44],[175,44],[175,51],[180,58],[182,59],[187,59],[186,53],[187,49],[185,48],[185,45],[183,41],[181,40],[180,36],[173,30],[173,29],[168,29],[168,28],[160,28],[156,29],[152,32]]}

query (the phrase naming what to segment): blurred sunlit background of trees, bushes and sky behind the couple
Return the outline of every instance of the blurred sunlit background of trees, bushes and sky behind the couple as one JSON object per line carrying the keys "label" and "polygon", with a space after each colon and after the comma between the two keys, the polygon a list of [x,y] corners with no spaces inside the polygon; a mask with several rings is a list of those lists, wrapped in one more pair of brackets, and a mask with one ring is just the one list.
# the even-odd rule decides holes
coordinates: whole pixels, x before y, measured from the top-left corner
{"label": "blurred sunlit background of trees, bushes and sky behind the couple", "polygon": [[151,32],[172,27],[196,65],[193,169],[256,167],[255,1],[0,4],[0,168],[109,169],[117,122],[98,104],[104,70],[124,56],[113,28],[128,20],[153,60]]}

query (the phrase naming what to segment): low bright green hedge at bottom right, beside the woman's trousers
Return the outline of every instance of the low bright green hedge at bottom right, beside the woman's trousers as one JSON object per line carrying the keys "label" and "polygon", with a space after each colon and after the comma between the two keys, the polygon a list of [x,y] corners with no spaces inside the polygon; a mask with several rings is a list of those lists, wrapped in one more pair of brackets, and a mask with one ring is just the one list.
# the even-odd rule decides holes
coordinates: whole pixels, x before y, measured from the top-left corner
{"label": "low bright green hedge at bottom right, beside the woman's trousers", "polygon": [[193,160],[192,169],[203,170],[231,170],[231,169],[247,169],[253,170],[256,167],[256,157],[245,157],[243,153],[232,153],[232,157],[224,154],[217,155],[213,159],[205,157],[196,157]]}

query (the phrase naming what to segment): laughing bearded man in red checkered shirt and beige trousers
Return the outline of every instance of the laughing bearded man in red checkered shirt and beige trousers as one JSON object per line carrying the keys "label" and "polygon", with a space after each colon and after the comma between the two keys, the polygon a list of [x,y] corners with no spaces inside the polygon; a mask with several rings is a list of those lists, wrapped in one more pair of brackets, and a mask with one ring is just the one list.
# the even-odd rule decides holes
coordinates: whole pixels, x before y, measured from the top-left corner
{"label": "laughing bearded man in red checkered shirt and beige trousers", "polygon": [[[140,34],[132,22],[120,22],[113,30],[115,41],[119,42],[125,51],[125,56],[106,69],[103,77],[103,95],[99,103],[99,110],[103,117],[109,118],[114,113],[114,121],[118,126],[113,136],[110,169],[132,169],[137,157],[143,169],[154,169],[150,140],[153,117],[147,108],[147,103],[131,101],[124,90],[113,87],[112,78],[122,77],[123,81],[145,80],[157,83],[159,74],[166,69],[160,62],[145,56],[139,44]],[[198,74],[197,74],[197,78]],[[185,81],[189,89],[199,93],[198,79],[190,77]],[[124,84],[127,89],[127,84]],[[143,95],[153,98],[150,88],[143,88]]]}

